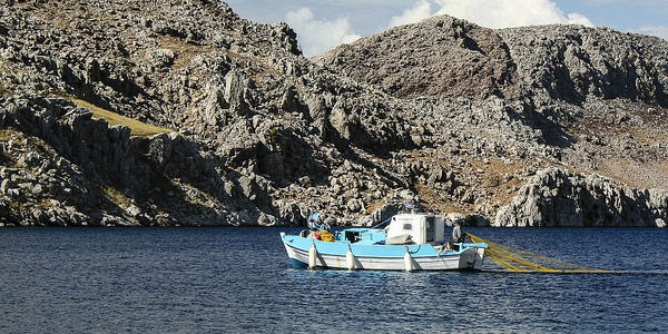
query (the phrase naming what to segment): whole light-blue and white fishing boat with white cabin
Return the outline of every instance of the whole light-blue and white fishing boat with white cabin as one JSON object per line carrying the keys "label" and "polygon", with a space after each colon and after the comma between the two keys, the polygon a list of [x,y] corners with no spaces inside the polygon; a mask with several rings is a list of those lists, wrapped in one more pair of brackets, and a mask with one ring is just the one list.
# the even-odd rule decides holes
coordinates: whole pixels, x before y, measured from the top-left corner
{"label": "whole light-blue and white fishing boat with white cabin", "polygon": [[281,233],[296,268],[480,271],[488,248],[482,243],[450,245],[444,218],[435,214],[399,214],[386,228],[346,228],[334,235],[313,218],[312,230]]}

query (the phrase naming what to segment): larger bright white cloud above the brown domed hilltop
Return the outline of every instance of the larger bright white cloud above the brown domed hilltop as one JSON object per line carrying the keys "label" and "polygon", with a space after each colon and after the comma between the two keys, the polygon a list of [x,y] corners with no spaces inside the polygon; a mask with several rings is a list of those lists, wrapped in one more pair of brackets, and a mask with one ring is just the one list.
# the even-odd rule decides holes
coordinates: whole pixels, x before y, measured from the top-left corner
{"label": "larger bright white cloud above the brown domed hilltop", "polygon": [[549,0],[435,0],[436,14],[450,14],[488,28],[576,23],[593,26],[579,13],[564,14]]}

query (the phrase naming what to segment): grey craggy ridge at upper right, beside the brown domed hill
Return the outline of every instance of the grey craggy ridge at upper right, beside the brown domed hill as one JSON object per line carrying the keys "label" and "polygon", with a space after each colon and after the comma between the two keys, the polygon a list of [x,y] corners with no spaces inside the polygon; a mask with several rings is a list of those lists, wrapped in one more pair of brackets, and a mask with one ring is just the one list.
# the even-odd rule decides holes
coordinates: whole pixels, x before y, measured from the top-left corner
{"label": "grey craggy ridge at upper right, beside the brown domed hill", "polygon": [[589,96],[668,107],[667,41],[608,28],[543,26],[499,31],[521,81],[552,99]]}

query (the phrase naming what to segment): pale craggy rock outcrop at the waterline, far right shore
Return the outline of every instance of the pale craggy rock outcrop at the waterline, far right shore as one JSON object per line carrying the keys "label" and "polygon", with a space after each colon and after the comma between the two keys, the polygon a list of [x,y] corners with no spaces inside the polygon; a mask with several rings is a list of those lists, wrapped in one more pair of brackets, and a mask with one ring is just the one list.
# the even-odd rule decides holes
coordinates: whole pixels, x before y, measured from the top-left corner
{"label": "pale craggy rock outcrop at the waterline, far right shore", "polygon": [[625,187],[599,175],[549,167],[500,208],[494,226],[666,227],[668,190]]}

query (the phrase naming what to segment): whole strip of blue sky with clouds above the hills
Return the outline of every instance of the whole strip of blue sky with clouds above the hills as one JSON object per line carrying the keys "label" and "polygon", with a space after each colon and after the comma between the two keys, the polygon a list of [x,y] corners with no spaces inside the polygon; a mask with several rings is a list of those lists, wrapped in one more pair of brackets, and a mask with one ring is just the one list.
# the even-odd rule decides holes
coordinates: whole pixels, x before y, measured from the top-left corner
{"label": "whole strip of blue sky with clouds above the hills", "polygon": [[576,23],[668,40],[668,0],[224,0],[258,23],[287,22],[306,57],[392,27],[449,14],[488,28]]}

